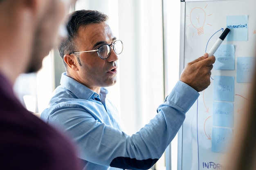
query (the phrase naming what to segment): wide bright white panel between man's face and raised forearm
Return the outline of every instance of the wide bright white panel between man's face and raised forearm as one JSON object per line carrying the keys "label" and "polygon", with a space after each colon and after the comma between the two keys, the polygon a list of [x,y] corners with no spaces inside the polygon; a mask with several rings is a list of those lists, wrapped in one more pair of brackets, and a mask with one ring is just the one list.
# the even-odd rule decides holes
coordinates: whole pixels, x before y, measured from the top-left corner
{"label": "wide bright white panel between man's face and raised forearm", "polygon": [[162,0],[119,0],[121,116],[128,133],[152,119],[164,101]]}

